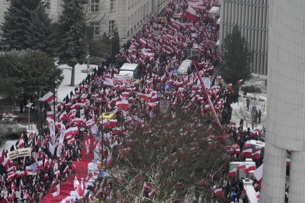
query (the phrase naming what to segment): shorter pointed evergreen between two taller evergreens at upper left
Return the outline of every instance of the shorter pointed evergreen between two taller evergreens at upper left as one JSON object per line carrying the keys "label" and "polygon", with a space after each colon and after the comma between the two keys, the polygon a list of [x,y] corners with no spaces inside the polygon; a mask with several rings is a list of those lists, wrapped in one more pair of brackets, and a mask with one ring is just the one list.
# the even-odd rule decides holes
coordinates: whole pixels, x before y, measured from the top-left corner
{"label": "shorter pointed evergreen between two taller evergreens at upper left", "polygon": [[56,37],[54,24],[41,5],[31,15],[31,22],[26,31],[25,44],[31,49],[41,49],[50,56],[54,56],[56,50]]}

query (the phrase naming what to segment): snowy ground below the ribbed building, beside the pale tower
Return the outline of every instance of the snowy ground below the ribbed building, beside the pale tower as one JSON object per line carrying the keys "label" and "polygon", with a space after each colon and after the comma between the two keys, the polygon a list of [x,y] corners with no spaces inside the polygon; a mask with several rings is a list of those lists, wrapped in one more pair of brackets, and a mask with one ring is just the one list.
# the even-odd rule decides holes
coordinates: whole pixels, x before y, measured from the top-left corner
{"label": "snowy ground below the ribbed building, beside the pale tower", "polygon": [[[260,106],[262,107],[261,111],[262,111],[262,117],[261,117],[261,123],[257,123],[254,125],[254,129],[258,128],[262,128],[263,126],[266,126],[266,108],[267,108],[267,103],[266,103],[266,99],[267,99],[267,86],[266,86],[266,77],[265,76],[260,76],[260,75],[254,75],[252,74],[253,77],[250,78],[249,80],[245,81],[244,84],[242,85],[255,85],[258,86],[262,93],[258,94],[258,93],[247,93],[247,97],[256,97],[258,99],[263,99],[265,101],[259,101],[260,102]],[[236,103],[232,103],[231,107],[233,108],[232,110],[232,117],[231,117],[231,122],[234,122],[236,124],[236,126],[239,126],[239,122],[240,122],[240,109],[245,108],[246,106],[246,99],[244,98],[242,95],[242,91],[239,91],[239,95],[241,95],[241,97],[238,97],[238,101]],[[265,111],[263,111],[263,106],[265,105]],[[249,109],[251,110],[251,109]],[[246,123],[245,119],[244,120],[244,124],[243,124],[243,129],[245,130],[248,127],[252,128],[252,125],[250,123]]]}

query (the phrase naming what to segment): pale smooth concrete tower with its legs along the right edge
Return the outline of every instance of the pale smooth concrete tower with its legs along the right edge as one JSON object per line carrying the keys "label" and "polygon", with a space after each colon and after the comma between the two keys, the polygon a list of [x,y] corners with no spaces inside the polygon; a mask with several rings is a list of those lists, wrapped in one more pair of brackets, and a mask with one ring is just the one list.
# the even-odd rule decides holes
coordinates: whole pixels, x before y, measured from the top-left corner
{"label": "pale smooth concrete tower with its legs along the right edge", "polygon": [[267,123],[260,203],[285,200],[291,150],[289,202],[305,199],[305,1],[269,6]]}

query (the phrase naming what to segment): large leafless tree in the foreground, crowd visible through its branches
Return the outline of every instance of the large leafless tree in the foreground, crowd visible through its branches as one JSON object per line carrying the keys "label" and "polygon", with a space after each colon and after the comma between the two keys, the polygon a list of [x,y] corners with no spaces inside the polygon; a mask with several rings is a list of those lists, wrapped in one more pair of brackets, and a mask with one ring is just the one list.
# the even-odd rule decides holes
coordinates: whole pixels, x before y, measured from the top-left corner
{"label": "large leafless tree in the foreground, crowd visible through its branches", "polygon": [[[108,196],[139,203],[199,199],[202,194],[207,202],[222,199],[209,189],[220,182],[229,160],[224,159],[225,142],[210,139],[214,131],[205,117],[181,111],[175,118],[140,115],[124,125],[115,140],[104,141],[107,155],[95,159],[106,165],[101,184],[110,183]],[[101,154],[101,148],[95,151]]]}

